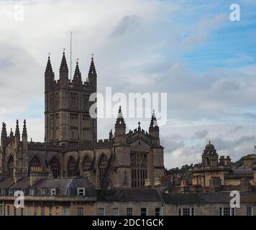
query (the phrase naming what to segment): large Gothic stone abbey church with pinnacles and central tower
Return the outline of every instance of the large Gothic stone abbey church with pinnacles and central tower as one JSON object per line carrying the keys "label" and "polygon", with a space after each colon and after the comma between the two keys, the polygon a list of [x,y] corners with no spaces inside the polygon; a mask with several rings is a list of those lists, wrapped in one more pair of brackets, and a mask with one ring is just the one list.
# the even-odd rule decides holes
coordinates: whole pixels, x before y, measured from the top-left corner
{"label": "large Gothic stone abbey church with pinnacles and central tower", "polygon": [[[65,52],[55,79],[50,57],[45,69],[45,142],[29,142],[26,121],[17,121],[7,135],[2,124],[0,173],[7,178],[84,177],[95,188],[142,188],[153,186],[165,174],[163,147],[155,114],[149,131],[140,125],[127,133],[122,109],[116,111],[114,132],[97,140],[97,119],[89,114],[91,93],[97,91],[93,57],[83,82],[78,63],[73,79],[68,76]],[[22,130],[20,130],[22,129]]]}

